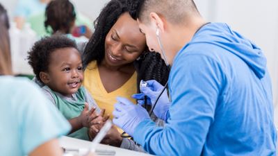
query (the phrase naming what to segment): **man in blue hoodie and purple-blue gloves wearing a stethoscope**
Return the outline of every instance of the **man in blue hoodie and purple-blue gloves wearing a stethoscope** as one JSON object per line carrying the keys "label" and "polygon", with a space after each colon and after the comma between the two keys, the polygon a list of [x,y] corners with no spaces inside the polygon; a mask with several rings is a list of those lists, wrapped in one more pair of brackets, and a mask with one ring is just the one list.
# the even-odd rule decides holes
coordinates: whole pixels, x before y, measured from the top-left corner
{"label": "man in blue hoodie and purple-blue gloves wearing a stethoscope", "polygon": [[[154,155],[276,155],[270,75],[259,46],[227,24],[207,23],[192,0],[133,7],[149,49],[171,66],[171,101],[163,92],[154,107],[165,121],[158,127],[140,105],[119,97],[113,123]],[[147,83],[141,92],[154,105],[163,86]]]}

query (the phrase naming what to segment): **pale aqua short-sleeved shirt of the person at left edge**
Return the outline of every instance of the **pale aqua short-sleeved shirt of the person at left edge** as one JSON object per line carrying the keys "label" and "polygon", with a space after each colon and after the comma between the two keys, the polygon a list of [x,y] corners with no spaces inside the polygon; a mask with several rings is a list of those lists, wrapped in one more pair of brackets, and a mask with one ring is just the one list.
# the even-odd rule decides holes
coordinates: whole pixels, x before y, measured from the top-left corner
{"label": "pale aqua short-sleeved shirt of the person at left edge", "polygon": [[0,155],[28,155],[70,131],[70,123],[27,79],[0,76],[0,86]]}

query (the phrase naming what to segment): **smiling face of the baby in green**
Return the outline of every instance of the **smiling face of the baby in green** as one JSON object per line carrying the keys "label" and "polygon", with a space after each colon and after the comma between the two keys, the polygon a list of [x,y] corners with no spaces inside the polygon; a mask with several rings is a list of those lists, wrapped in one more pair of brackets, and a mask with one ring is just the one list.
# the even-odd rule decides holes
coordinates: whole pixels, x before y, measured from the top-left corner
{"label": "smiling face of the baby in green", "polygon": [[56,49],[49,59],[49,83],[63,96],[76,93],[83,81],[83,67],[79,51],[74,48]]}

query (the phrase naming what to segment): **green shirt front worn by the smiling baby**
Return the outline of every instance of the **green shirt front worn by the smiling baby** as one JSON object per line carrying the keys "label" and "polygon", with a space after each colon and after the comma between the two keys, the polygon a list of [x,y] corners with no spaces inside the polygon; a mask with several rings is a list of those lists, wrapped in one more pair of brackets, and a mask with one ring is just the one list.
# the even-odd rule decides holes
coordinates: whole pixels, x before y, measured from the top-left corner
{"label": "green shirt front worn by the smiling baby", "polygon": [[[79,116],[85,107],[86,92],[84,87],[80,87],[76,94],[74,94],[74,96],[76,96],[74,100],[62,98],[57,92],[52,91],[47,86],[44,86],[43,89],[47,90],[51,94],[56,107],[68,120]],[[67,136],[77,139],[89,140],[88,128],[81,128],[80,130],[72,132]]]}

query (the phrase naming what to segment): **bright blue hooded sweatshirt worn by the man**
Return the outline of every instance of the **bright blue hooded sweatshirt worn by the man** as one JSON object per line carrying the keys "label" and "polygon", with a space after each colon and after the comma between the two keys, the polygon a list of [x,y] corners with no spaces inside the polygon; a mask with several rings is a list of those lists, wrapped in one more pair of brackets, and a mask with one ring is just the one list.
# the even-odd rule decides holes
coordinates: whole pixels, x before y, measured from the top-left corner
{"label": "bright blue hooded sweatshirt worn by the man", "polygon": [[202,27],[174,58],[165,127],[134,140],[155,155],[276,155],[271,80],[261,49],[227,24]]}

